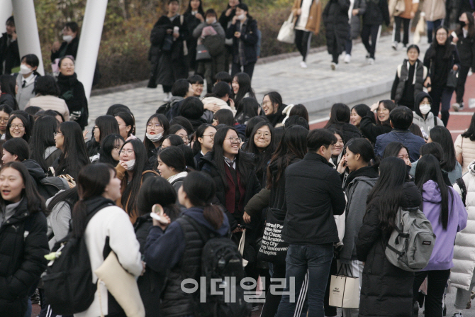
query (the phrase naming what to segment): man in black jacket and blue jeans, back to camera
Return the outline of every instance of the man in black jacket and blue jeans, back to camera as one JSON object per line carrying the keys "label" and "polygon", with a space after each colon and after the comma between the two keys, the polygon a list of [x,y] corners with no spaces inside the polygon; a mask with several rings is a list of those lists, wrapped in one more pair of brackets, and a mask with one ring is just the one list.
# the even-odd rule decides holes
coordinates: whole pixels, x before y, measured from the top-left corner
{"label": "man in black jacket and blue jeans, back to camera", "polygon": [[294,316],[296,308],[301,309],[296,307],[296,290],[301,289],[307,271],[308,316],[324,316],[333,244],[339,241],[333,216],[341,215],[346,205],[340,174],[328,163],[336,142],[328,130],[311,131],[308,153],[286,169],[287,213],[282,238],[289,243],[289,250],[278,317]]}

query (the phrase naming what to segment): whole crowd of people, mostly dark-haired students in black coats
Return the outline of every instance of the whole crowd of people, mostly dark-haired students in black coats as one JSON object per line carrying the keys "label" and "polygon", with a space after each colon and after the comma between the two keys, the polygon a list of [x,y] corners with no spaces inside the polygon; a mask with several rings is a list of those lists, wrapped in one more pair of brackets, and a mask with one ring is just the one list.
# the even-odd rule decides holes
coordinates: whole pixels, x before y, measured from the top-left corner
{"label": "whole crowd of people, mostly dark-haired students in black coats", "polygon": [[[407,30],[417,3],[404,2],[395,23]],[[310,0],[293,6],[301,66],[307,67],[320,15],[333,69],[344,51],[350,62],[359,30],[353,17],[361,15],[374,62],[391,6],[383,0],[330,0],[323,12],[321,6]],[[220,18],[204,11],[201,0],[191,0],[183,15],[177,0],[167,1],[167,9],[151,34],[149,82],[162,85],[167,103],[148,118],[145,135],[137,135],[128,106],[111,105],[95,118],[89,140],[87,99],[74,72],[77,24],[67,23],[64,42],[52,46],[55,78],[38,74],[35,55],[13,58],[13,17],[7,21],[6,46],[0,39],[1,316],[31,316],[37,293],[41,317],[68,316],[50,285],[78,273],[52,272],[82,241],[89,275],[80,277],[94,287],[88,301],[67,305],[74,316],[131,316],[138,302],[144,309],[138,316],[247,316],[258,303],[234,303],[233,314],[217,311],[223,303],[206,311],[200,296],[184,291],[185,280],[206,274],[203,259],[225,248],[235,261],[220,254],[224,262],[211,262],[220,269],[234,263],[234,277],[255,281],[245,289],[262,291],[262,317],[337,316],[330,281],[341,272],[359,283],[359,306],[344,307],[343,316],[417,316],[424,305],[426,316],[440,317],[450,280],[457,298],[448,311],[461,317],[475,286],[469,252],[475,114],[455,142],[445,126],[454,89],[457,109],[464,94],[449,75],[459,70],[460,82],[475,64],[471,12],[462,11],[453,34],[427,19],[435,40],[423,62],[405,33],[408,59],[396,69],[391,100],[352,109],[333,104],[325,127],[311,130],[303,104],[284,104],[277,91],[257,100],[251,79],[260,35],[246,4],[230,0]],[[197,58],[206,50],[206,58]],[[18,74],[9,74],[15,67]],[[417,272],[393,265],[385,253],[401,211],[420,212],[436,237]],[[123,301],[118,293],[133,287],[100,277],[112,253],[134,277],[123,285],[139,296]],[[259,279],[267,281],[260,289]]]}

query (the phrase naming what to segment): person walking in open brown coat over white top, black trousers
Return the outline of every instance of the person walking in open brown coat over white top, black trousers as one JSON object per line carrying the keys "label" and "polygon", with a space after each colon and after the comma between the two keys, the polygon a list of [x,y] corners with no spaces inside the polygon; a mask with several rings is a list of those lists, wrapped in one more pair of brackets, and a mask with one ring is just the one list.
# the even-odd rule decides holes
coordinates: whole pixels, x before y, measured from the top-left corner
{"label": "person walking in open brown coat over white top, black trousers", "polygon": [[318,0],[295,0],[292,6],[295,18],[295,45],[302,55],[300,67],[307,68],[307,54],[310,49],[312,33],[320,32],[322,2]]}

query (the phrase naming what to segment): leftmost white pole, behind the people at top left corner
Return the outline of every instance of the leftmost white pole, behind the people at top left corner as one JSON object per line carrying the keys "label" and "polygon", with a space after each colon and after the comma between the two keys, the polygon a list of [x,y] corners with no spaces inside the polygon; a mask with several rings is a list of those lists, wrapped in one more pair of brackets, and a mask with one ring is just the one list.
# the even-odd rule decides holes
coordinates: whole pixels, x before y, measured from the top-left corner
{"label": "leftmost white pole, behind the people at top left corner", "polygon": [[38,72],[45,74],[43,57],[41,56],[40,36],[38,35],[38,25],[36,24],[35,4],[33,4],[33,0],[13,0],[12,2],[20,57],[27,54],[38,56],[40,60]]}

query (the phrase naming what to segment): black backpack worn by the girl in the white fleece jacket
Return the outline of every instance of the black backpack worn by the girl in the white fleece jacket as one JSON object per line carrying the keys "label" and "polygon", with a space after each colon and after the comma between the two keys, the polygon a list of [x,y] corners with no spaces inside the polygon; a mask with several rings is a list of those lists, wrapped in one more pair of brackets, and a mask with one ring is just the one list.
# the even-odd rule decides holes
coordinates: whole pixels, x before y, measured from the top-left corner
{"label": "black backpack worn by the girl in the white fleece jacket", "polygon": [[[86,225],[101,208],[89,214]],[[75,238],[68,233],[52,249],[61,252],[43,274],[45,300],[58,315],[85,311],[94,301],[97,285],[92,282],[91,260],[84,235]]]}

